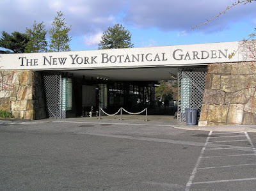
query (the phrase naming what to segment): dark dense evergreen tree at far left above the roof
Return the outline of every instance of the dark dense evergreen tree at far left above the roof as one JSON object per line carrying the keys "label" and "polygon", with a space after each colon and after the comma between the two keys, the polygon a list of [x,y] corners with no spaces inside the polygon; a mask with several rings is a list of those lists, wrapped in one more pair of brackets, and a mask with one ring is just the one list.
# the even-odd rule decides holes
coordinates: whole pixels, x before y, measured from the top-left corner
{"label": "dark dense evergreen tree at far left above the roof", "polygon": [[[14,31],[12,34],[8,34],[2,31],[2,36],[0,39],[0,47],[4,49],[12,50],[14,53],[24,53],[26,45],[29,42],[29,36],[18,31]],[[4,51],[9,53],[10,51]]]}

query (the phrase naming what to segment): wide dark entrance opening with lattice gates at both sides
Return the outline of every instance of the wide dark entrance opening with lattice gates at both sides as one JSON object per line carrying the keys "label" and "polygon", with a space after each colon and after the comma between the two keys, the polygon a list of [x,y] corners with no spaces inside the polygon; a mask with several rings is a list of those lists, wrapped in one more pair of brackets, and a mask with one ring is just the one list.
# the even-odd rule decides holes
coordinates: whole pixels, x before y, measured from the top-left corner
{"label": "wide dark entrance opening with lattice gates at both sides", "polygon": [[[127,69],[127,73],[134,73],[130,76],[126,73],[125,80],[120,77],[120,72],[124,72],[124,69],[111,70],[115,80],[111,80],[109,70],[44,72],[45,100],[49,118],[84,116],[86,112],[99,111],[99,107],[109,114],[115,113],[120,107],[130,112],[139,112],[147,107],[148,114],[174,115],[177,112],[180,122],[186,121],[187,107],[196,107],[200,113],[204,95],[205,66],[155,69],[154,75],[154,68]],[[142,74],[137,78],[136,75],[140,72]],[[164,73],[163,76],[161,72]],[[150,74],[152,77],[148,76]],[[156,88],[159,86],[159,80],[174,80],[176,77],[179,89],[177,99],[168,103],[158,100]]]}

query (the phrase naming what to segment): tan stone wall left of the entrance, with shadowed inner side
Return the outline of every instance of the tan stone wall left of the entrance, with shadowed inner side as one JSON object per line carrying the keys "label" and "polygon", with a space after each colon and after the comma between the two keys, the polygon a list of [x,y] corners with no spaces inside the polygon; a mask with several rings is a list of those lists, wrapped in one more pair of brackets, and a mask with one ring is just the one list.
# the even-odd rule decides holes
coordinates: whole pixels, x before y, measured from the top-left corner
{"label": "tan stone wall left of the entrance, with shadowed inner side", "polygon": [[46,118],[40,72],[0,70],[0,110],[19,119]]}

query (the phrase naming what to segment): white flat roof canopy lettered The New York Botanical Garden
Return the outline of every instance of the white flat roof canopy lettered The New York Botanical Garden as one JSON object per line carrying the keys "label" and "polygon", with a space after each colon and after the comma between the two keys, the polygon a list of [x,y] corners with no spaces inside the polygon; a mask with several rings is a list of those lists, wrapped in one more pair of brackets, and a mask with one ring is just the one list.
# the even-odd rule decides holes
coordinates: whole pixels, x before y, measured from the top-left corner
{"label": "white flat roof canopy lettered The New York Botanical Garden", "polygon": [[[228,56],[236,52],[230,59]],[[251,61],[241,42],[133,49],[0,54],[1,70],[72,72],[109,80],[168,80],[177,68]]]}

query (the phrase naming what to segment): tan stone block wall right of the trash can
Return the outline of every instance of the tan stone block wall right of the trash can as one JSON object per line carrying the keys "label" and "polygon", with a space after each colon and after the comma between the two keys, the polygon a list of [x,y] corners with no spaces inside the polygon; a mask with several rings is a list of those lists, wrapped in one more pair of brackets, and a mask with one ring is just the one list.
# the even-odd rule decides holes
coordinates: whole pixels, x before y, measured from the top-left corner
{"label": "tan stone block wall right of the trash can", "polygon": [[199,126],[256,123],[256,62],[208,66]]}

